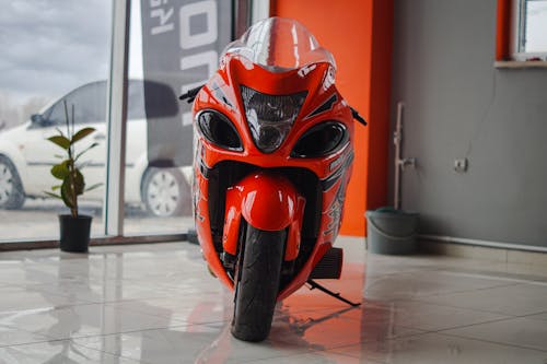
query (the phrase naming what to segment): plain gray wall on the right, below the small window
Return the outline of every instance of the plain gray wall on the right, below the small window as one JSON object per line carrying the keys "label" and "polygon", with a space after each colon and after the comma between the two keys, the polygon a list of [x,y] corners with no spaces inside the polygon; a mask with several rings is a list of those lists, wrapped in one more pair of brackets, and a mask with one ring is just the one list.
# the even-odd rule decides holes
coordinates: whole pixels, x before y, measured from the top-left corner
{"label": "plain gray wall on the right, below the small window", "polygon": [[547,68],[493,67],[496,12],[496,0],[395,0],[392,128],[403,101],[403,155],[418,160],[403,208],[422,234],[547,246]]}

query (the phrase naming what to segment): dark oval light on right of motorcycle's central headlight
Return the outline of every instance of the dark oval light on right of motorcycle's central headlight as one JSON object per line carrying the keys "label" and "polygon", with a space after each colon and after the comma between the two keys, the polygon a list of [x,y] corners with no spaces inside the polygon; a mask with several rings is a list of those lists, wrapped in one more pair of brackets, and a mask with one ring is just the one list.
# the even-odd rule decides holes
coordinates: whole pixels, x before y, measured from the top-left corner
{"label": "dark oval light on right of motorcycle's central headlight", "polygon": [[349,140],[349,134],[338,121],[325,121],[310,128],[294,145],[291,156],[318,157],[331,154]]}

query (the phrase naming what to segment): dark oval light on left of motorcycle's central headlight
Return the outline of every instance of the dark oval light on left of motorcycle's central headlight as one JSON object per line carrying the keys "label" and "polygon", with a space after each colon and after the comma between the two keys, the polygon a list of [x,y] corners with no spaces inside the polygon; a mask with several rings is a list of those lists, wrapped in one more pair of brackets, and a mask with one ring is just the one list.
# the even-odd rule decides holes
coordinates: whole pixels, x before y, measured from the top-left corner
{"label": "dark oval light on left of motorcycle's central headlight", "polygon": [[212,144],[231,151],[243,151],[237,130],[228,117],[216,110],[203,110],[197,116],[199,131]]}

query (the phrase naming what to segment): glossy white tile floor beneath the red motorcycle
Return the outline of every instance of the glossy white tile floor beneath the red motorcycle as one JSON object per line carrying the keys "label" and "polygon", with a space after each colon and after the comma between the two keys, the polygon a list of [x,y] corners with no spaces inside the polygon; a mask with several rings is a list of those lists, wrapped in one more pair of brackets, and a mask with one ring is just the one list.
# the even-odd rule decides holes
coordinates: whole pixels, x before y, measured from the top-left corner
{"label": "glossy white tile floor beneath the red motorcycle", "polygon": [[337,245],[363,305],[302,289],[258,344],[195,245],[0,253],[0,363],[547,363],[547,267]]}

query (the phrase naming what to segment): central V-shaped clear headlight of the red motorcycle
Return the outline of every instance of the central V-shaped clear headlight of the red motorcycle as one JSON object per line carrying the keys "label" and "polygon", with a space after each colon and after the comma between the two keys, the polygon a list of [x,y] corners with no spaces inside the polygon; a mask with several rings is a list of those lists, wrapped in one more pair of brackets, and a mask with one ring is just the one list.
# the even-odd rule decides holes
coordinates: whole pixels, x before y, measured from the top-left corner
{"label": "central V-shaped clear headlight of the red motorcycle", "polygon": [[271,153],[281,145],[304,104],[307,92],[268,95],[241,86],[245,116],[256,146]]}

